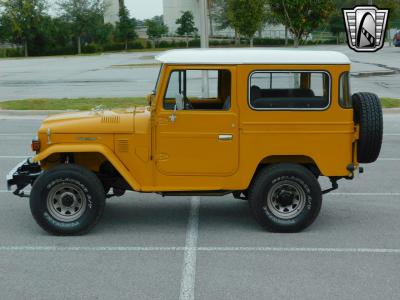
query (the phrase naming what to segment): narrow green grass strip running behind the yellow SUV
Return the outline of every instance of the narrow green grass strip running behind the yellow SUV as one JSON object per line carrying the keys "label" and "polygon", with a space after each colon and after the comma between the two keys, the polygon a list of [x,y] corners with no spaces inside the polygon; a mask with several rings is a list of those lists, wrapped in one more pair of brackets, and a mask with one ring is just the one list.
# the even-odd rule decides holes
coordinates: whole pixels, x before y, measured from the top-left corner
{"label": "narrow green grass strip running behind the yellow SUV", "polygon": [[[381,98],[383,108],[400,107],[400,99]],[[128,108],[146,105],[145,98],[78,98],[78,99],[25,99],[0,102],[3,110],[90,110],[98,105],[105,108]]]}

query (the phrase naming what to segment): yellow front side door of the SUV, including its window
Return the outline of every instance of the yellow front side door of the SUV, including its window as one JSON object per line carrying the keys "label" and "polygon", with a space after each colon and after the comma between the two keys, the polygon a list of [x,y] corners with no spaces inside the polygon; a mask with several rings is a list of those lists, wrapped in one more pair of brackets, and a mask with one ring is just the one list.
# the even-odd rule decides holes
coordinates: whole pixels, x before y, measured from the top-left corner
{"label": "yellow front side door of the SUV, including its window", "polygon": [[236,172],[239,131],[232,89],[235,70],[170,70],[156,117],[155,159],[160,173],[229,176]]}

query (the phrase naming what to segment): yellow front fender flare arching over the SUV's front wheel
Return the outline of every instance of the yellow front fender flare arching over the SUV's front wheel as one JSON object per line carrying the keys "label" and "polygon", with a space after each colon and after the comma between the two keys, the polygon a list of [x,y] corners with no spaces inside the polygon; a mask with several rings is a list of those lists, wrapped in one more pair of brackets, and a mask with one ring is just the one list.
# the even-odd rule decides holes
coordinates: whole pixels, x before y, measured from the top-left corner
{"label": "yellow front fender flare arching over the SUV's front wheel", "polygon": [[114,168],[121,174],[122,177],[129,183],[135,191],[140,191],[141,187],[138,181],[132,176],[129,170],[121,163],[118,157],[108,147],[99,144],[55,144],[49,146],[43,152],[33,157],[34,162],[40,162],[52,154],[57,153],[100,153],[114,166]]}

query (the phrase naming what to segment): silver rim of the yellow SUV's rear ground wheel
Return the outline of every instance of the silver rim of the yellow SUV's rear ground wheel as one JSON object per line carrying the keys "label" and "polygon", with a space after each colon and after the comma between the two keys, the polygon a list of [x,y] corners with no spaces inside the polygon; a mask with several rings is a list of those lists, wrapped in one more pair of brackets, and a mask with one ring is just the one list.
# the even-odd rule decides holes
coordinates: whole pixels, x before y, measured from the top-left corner
{"label": "silver rim of the yellow SUV's rear ground wheel", "polygon": [[267,194],[268,210],[281,219],[297,217],[303,211],[305,203],[304,189],[292,180],[275,183]]}

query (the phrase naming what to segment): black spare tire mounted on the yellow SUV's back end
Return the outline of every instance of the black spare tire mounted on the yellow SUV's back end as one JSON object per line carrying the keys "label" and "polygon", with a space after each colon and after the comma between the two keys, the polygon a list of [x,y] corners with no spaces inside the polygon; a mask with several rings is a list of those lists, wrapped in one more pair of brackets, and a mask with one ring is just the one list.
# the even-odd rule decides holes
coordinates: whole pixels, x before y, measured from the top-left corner
{"label": "black spare tire mounted on the yellow SUV's back end", "polygon": [[357,159],[360,163],[377,160],[382,146],[383,116],[379,97],[372,93],[356,93],[352,96],[354,122],[359,125]]}

